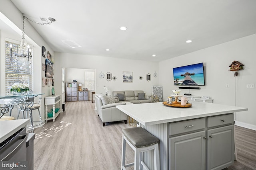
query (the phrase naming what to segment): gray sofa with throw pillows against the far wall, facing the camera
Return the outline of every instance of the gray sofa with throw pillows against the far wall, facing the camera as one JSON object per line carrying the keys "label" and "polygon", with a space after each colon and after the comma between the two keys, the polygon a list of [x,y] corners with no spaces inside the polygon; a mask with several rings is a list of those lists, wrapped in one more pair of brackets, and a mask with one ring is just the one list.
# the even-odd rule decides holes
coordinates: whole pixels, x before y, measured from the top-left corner
{"label": "gray sofa with throw pillows against the far wall, facing the camera", "polygon": [[113,97],[118,102],[131,102],[133,104],[150,103],[151,96],[146,96],[143,90],[113,91]]}

